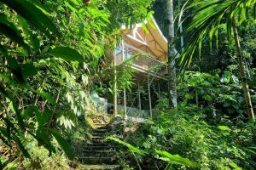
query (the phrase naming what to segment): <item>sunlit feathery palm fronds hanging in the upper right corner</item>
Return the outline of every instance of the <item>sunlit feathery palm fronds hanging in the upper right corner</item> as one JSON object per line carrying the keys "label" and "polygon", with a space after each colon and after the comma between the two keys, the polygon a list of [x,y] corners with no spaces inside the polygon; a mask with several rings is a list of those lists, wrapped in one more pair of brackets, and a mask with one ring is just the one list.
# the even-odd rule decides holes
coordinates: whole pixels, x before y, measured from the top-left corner
{"label": "sunlit feathery palm fronds hanging in the upper right corner", "polygon": [[[210,49],[212,51],[213,37],[216,39],[218,47],[218,28],[225,24],[228,36],[231,36],[232,26],[236,23],[239,28],[247,26],[248,21],[253,17],[255,1],[247,0],[209,0],[201,2],[199,0],[189,3],[183,11],[193,9],[193,13],[189,14],[184,20],[191,20],[189,26],[183,31],[183,35],[190,36],[189,41],[183,47],[183,53],[178,58],[180,70],[184,71],[192,62],[196,50],[201,56],[201,47],[203,40],[208,36],[210,41]],[[255,24],[255,19],[253,19]]]}

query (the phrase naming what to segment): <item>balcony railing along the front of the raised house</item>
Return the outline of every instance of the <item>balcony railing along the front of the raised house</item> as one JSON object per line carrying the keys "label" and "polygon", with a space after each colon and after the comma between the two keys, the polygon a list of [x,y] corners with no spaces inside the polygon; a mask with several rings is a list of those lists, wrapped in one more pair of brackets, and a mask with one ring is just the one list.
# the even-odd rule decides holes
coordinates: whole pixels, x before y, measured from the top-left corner
{"label": "balcony railing along the front of the raised house", "polygon": [[150,71],[159,75],[165,75],[167,72],[166,63],[154,59],[152,55],[129,44],[124,44],[124,48],[119,47],[119,53],[116,54],[116,60],[117,65],[129,60],[134,67],[142,71]]}

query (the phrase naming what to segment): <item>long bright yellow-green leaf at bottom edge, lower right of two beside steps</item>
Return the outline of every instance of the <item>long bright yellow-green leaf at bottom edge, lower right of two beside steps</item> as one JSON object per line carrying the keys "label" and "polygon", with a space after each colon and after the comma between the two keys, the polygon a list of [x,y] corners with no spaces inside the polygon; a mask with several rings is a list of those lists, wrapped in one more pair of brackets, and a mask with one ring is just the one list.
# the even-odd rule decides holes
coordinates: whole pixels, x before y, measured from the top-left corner
{"label": "long bright yellow-green leaf at bottom edge, lower right of two beside steps", "polygon": [[172,155],[169,152],[161,150],[155,150],[155,152],[161,156],[164,156],[160,157],[160,159],[163,161],[168,161],[174,164],[179,164],[188,167],[198,167],[197,163],[190,161],[188,158],[183,158],[182,156],[179,155]]}

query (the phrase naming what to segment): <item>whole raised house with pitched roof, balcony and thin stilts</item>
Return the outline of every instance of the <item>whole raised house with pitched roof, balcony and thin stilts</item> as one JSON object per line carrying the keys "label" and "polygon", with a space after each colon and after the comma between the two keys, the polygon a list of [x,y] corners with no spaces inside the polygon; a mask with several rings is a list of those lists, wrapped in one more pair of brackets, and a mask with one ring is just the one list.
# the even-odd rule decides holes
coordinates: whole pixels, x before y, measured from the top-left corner
{"label": "whole raised house with pitched roof, balcony and thin stilts", "polygon": [[[168,47],[166,37],[160,31],[154,17],[152,16],[151,19],[144,21],[144,23],[138,23],[132,29],[126,29],[125,26],[121,27],[123,39],[114,52],[115,64],[121,65],[129,61],[132,69],[136,70],[134,75],[136,81],[130,93],[133,94],[130,98],[134,99],[134,102],[128,104],[129,93],[126,89],[120,95],[123,97],[123,99],[119,99],[122,101],[121,103],[115,99],[116,96],[113,97],[113,103],[116,103],[113,104],[113,110],[117,114],[121,111],[125,112],[127,116],[134,116],[136,112],[139,117],[152,117],[157,114],[157,111],[154,110],[154,104],[160,94],[162,87],[160,83],[167,82]],[[141,87],[147,89],[147,96],[142,96]],[[158,92],[155,93],[155,91]]]}

